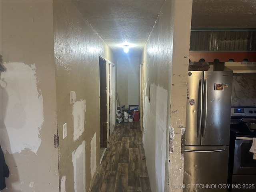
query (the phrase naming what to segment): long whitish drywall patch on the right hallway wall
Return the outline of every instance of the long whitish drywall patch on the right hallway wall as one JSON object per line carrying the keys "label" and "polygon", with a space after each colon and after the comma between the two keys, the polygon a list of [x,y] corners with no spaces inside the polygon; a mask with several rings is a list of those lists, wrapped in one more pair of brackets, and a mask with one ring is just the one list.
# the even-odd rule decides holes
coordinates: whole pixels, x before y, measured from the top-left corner
{"label": "long whitish drywall patch on the right hallway wall", "polygon": [[[149,98],[144,95],[143,142],[147,159],[151,190],[164,191],[168,169],[169,126],[167,124],[168,91],[156,84],[150,84]],[[146,130],[146,131],[145,131]]]}

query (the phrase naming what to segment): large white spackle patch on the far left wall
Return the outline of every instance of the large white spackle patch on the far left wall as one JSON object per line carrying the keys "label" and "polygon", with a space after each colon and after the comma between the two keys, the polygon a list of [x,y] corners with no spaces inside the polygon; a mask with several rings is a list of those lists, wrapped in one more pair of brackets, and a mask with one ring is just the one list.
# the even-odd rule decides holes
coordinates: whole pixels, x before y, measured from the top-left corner
{"label": "large white spackle patch on the far left wall", "polygon": [[36,153],[44,122],[43,97],[38,92],[36,66],[4,63],[1,74],[1,144],[10,154],[30,149]]}

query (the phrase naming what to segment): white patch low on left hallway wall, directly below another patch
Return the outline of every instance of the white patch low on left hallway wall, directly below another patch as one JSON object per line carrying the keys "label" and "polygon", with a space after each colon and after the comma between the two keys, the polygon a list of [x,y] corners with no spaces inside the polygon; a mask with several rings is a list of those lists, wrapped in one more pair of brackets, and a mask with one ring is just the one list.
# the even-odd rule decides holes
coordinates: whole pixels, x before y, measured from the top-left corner
{"label": "white patch low on left hallway wall, directly below another patch", "polygon": [[85,191],[85,144],[84,141],[72,152],[75,192]]}

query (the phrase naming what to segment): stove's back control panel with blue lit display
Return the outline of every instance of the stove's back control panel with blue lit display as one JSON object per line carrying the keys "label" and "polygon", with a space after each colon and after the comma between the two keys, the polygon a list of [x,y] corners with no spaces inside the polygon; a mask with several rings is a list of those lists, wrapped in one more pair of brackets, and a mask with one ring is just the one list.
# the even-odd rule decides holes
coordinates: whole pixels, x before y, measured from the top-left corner
{"label": "stove's back control panel with blue lit display", "polygon": [[256,107],[231,107],[231,117],[256,117]]}

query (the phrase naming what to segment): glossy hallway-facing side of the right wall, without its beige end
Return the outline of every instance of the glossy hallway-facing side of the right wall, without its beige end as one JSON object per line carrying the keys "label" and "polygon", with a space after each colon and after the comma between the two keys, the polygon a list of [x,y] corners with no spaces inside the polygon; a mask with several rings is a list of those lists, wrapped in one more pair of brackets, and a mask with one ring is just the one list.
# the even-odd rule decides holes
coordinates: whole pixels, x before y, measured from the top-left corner
{"label": "glossy hallway-facing side of the right wall, without its beige end", "polygon": [[[169,1],[164,3],[169,7]],[[172,28],[161,11],[144,51],[143,143],[151,190],[168,191]],[[152,158],[153,157],[153,158]],[[160,166],[161,165],[161,166]]]}

